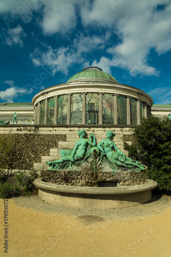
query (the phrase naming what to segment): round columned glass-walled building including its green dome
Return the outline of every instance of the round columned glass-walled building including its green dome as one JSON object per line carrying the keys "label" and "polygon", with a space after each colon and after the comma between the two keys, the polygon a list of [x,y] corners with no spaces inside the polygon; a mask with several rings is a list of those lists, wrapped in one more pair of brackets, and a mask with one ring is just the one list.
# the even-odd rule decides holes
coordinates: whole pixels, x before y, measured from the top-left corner
{"label": "round columned glass-walled building including its green dome", "polygon": [[40,91],[32,104],[34,124],[140,125],[150,116],[153,99],[98,67],[87,67]]}

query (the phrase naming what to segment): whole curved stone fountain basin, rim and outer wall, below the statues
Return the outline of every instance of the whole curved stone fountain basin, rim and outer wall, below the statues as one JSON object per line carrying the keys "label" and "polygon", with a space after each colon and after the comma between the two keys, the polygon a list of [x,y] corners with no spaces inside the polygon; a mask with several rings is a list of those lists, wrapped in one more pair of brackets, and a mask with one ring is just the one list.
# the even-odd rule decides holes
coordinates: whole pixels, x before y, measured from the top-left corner
{"label": "whole curved stone fountain basin, rim and outer wall, below the statues", "polygon": [[115,209],[144,204],[152,198],[151,190],[158,183],[146,179],[143,185],[127,187],[72,187],[61,186],[36,178],[39,197],[48,203],[84,209]]}

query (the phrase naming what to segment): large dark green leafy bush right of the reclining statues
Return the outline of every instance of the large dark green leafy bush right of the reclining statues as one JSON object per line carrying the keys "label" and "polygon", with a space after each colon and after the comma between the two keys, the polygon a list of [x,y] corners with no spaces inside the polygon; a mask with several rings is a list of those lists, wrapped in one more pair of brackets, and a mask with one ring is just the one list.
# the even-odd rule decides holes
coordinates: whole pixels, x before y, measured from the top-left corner
{"label": "large dark green leafy bush right of the reclining statues", "polygon": [[147,161],[146,173],[158,182],[161,191],[171,190],[171,121],[151,116],[135,128],[136,143],[124,149],[132,159]]}

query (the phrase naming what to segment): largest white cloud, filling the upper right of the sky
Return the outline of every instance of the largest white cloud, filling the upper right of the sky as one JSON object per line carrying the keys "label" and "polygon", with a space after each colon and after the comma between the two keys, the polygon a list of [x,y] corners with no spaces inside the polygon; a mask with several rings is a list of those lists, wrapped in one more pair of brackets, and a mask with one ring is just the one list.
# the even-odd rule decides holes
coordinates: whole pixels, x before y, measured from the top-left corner
{"label": "largest white cloud, filling the upper right of the sky", "polygon": [[[158,5],[166,5],[159,10]],[[159,54],[171,49],[171,3],[169,0],[103,1],[94,0],[81,6],[85,26],[110,27],[119,37],[120,43],[107,51],[111,66],[129,70],[132,76],[155,75],[159,71],[148,64],[148,54],[154,48]],[[103,58],[100,60],[102,62]]]}

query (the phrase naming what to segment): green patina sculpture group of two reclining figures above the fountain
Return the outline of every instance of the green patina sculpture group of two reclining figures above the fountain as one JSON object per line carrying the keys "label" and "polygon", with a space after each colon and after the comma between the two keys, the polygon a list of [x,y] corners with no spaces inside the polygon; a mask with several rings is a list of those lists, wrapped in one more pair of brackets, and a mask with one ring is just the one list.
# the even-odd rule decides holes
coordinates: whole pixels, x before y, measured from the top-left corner
{"label": "green patina sculpture group of two reclining figures above the fountain", "polygon": [[[49,165],[49,170],[65,170],[72,165],[79,166],[82,169],[84,163],[87,163],[88,160],[94,161],[95,156],[96,158],[99,157],[102,166],[106,170],[109,168],[113,171],[123,169],[127,171],[141,171],[145,169],[144,165],[139,161],[131,160],[117,148],[115,142],[111,140],[111,137],[115,136],[115,133],[112,131],[107,131],[107,138],[103,139],[98,145],[93,134],[90,134],[90,138],[86,139],[85,130],[80,130],[78,135],[80,139],[75,143],[73,150],[62,149],[60,151],[61,159],[46,162]],[[91,146],[93,147],[91,148]],[[95,152],[96,154],[94,155]],[[88,157],[90,158],[88,159]],[[82,163],[83,166],[81,165]]]}

